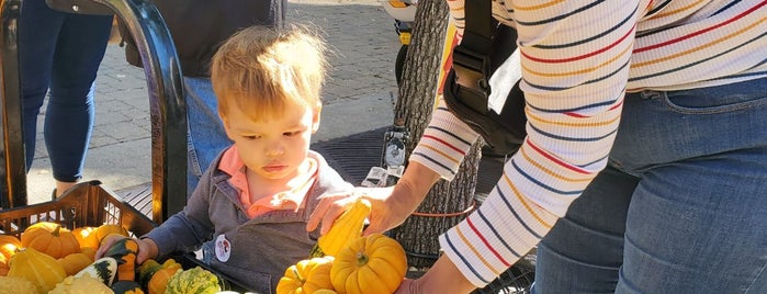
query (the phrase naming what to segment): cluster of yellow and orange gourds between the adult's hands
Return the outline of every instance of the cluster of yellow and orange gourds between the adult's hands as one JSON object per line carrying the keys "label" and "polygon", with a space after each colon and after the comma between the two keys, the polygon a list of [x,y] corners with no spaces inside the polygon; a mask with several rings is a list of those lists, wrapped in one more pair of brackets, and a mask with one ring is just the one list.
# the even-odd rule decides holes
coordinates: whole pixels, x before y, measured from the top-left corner
{"label": "cluster of yellow and orange gourds between the adult's hands", "polygon": [[359,199],[319,237],[309,257],[285,270],[278,294],[391,294],[407,272],[405,250],[396,240],[362,237],[371,204]]}

